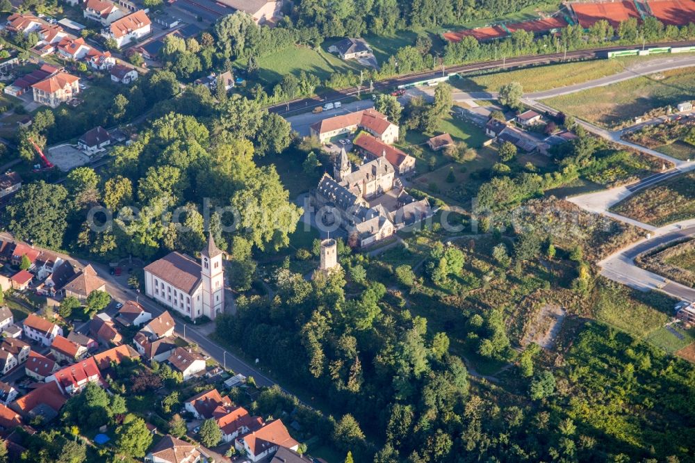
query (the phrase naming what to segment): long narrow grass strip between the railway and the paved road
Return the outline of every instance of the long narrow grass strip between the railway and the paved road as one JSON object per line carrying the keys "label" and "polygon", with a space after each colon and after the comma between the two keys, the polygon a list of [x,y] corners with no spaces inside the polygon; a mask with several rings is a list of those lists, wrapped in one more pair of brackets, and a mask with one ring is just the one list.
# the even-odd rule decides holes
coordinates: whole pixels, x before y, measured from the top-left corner
{"label": "long narrow grass strip between the railway and the paved road", "polygon": [[663,56],[628,56],[611,60],[580,61],[560,65],[529,67],[527,69],[493,72],[480,76],[461,76],[452,85],[466,92],[497,92],[508,82],[518,82],[524,92],[541,92],[553,88],[572,86],[623,72],[629,67]]}

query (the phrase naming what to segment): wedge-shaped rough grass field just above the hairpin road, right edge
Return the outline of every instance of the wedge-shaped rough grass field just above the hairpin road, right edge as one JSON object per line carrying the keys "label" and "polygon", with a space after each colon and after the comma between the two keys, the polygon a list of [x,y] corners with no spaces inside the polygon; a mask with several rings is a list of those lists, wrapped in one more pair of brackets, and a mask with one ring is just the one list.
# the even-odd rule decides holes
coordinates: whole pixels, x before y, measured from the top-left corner
{"label": "wedge-shaped rough grass field just above the hairpin road, right edge", "polygon": [[695,173],[679,175],[641,190],[610,208],[640,222],[659,227],[695,217]]}

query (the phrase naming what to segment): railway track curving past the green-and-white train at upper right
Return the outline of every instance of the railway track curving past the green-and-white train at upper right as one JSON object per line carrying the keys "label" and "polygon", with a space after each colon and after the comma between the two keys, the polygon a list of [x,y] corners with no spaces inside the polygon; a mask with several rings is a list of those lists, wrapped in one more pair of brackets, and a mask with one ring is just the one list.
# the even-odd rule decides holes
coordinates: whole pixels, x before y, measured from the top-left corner
{"label": "railway track curving past the green-and-white train at upper right", "polygon": [[[689,47],[695,46],[695,41],[689,42],[662,42],[650,44],[649,48],[654,47]],[[553,53],[546,55],[533,55],[533,56],[517,56],[515,58],[508,58],[502,60],[491,60],[485,61],[483,63],[473,63],[466,65],[456,65],[445,67],[444,70],[433,70],[433,71],[423,71],[416,72],[413,74],[407,74],[404,76],[395,77],[393,79],[388,79],[386,81],[379,81],[374,83],[374,90],[391,90],[397,86],[407,85],[409,83],[415,83],[419,81],[424,81],[428,79],[436,79],[440,77],[443,73],[459,73],[459,72],[476,72],[476,71],[486,71],[498,69],[504,67],[505,69],[514,67],[524,67],[530,65],[541,65],[550,63],[562,63],[568,60],[590,60],[598,58],[607,58],[609,51],[621,51],[635,49],[635,46],[616,46],[616,47],[602,47],[596,49],[587,50],[577,50],[577,51],[567,51],[566,53]],[[361,90],[364,92],[365,90]],[[281,104],[274,104],[268,106],[268,111],[272,113],[277,113],[279,115],[288,115],[295,111],[306,111],[307,109],[315,108],[316,106],[323,105],[325,103],[331,103],[334,101],[341,101],[349,97],[354,97],[358,95],[357,88],[346,88],[343,90],[335,90],[330,92],[324,97],[313,97],[313,98],[298,98],[292,101],[286,101]]]}

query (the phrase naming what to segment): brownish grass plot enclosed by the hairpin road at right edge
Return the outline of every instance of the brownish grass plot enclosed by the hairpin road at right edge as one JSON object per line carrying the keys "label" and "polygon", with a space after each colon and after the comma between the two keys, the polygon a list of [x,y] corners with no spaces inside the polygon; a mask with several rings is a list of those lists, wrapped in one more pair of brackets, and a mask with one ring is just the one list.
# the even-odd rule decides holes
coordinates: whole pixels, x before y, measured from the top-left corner
{"label": "brownish grass plot enclosed by the hairpin road at right edge", "polygon": [[640,255],[637,265],[674,282],[695,287],[695,240],[676,243],[663,250]]}

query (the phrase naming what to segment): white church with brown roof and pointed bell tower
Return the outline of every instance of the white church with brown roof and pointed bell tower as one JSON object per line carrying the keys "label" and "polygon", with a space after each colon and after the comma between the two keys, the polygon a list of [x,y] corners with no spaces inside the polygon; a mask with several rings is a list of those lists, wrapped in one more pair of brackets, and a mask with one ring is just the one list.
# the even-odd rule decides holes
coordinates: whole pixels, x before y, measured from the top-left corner
{"label": "white church with brown roof and pointed bell tower", "polygon": [[224,264],[222,251],[212,235],[199,261],[180,252],[145,267],[145,294],[156,302],[196,320],[215,320],[224,312]]}

